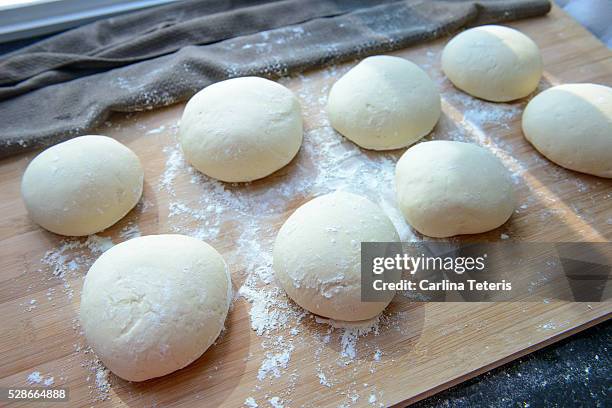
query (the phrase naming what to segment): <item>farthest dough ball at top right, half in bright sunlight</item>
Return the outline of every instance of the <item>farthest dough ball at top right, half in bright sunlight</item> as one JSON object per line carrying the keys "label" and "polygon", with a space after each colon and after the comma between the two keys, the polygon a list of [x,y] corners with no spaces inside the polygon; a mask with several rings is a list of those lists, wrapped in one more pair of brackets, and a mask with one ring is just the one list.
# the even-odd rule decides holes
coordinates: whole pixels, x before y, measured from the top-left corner
{"label": "farthest dough ball at top right, half in bright sunlight", "polygon": [[442,70],[462,91],[493,102],[523,98],[542,77],[538,46],[525,34],[489,25],[466,30],[442,52]]}

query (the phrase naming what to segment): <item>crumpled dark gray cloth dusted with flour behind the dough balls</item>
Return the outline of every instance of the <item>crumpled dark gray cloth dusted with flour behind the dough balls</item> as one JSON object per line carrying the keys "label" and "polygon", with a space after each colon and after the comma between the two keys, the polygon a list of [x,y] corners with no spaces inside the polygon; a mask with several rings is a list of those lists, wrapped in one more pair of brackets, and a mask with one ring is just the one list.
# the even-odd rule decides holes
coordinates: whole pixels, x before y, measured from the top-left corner
{"label": "crumpled dark gray cloth dusted with flour behind the dough balls", "polygon": [[0,59],[0,157],[223,79],[274,78],[549,10],[548,0],[210,0],[98,21]]}

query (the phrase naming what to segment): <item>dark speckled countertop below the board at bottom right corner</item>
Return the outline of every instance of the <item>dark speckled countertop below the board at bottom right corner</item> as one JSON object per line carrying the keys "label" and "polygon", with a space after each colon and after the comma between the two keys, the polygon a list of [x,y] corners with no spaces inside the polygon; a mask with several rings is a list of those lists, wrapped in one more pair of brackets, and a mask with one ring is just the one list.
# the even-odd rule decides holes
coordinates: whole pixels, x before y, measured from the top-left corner
{"label": "dark speckled countertop below the board at bottom right corner", "polygon": [[608,321],[413,407],[612,407],[611,345]]}

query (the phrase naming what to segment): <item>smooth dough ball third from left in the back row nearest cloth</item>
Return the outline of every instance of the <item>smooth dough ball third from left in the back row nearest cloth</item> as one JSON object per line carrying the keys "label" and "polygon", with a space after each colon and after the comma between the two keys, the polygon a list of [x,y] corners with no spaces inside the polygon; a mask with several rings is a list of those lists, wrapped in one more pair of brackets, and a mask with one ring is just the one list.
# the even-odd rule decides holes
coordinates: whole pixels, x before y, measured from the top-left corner
{"label": "smooth dough ball third from left in the back row nearest cloth", "polygon": [[332,86],[327,115],[334,129],[365,149],[399,149],[431,132],[440,118],[440,94],[412,62],[379,55]]}

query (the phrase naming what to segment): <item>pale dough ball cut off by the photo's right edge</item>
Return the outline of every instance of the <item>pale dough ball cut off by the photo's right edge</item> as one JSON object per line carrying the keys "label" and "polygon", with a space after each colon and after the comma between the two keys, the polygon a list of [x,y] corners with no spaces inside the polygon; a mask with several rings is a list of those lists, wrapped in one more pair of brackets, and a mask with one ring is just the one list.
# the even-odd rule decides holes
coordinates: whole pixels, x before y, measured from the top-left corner
{"label": "pale dough ball cut off by the photo's right edge", "polygon": [[523,133],[558,165],[612,178],[612,88],[567,84],[547,89],[527,104]]}

